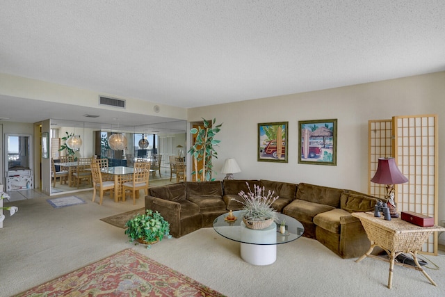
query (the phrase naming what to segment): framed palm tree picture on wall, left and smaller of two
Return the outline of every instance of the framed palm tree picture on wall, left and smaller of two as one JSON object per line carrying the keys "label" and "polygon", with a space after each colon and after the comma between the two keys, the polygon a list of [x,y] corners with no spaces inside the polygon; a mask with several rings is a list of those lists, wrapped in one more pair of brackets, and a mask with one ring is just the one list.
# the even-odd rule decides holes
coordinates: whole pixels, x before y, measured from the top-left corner
{"label": "framed palm tree picture on wall, left and smaller of two", "polygon": [[258,124],[258,161],[287,163],[288,122]]}

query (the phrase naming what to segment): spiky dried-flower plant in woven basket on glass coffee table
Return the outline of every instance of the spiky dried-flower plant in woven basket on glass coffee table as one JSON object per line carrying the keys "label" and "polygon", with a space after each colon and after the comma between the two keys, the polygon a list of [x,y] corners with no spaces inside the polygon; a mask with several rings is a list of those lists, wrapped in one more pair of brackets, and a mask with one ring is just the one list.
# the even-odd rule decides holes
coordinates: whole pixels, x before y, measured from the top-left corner
{"label": "spiky dried-flower plant in woven basket on glass coffee table", "polygon": [[254,191],[249,193],[241,191],[238,195],[243,198],[243,201],[238,201],[243,204],[243,222],[245,227],[250,229],[264,229],[270,226],[277,218],[277,211],[272,207],[273,202],[278,199],[278,196],[273,197],[274,191],[268,191],[267,195],[264,186],[254,185]]}

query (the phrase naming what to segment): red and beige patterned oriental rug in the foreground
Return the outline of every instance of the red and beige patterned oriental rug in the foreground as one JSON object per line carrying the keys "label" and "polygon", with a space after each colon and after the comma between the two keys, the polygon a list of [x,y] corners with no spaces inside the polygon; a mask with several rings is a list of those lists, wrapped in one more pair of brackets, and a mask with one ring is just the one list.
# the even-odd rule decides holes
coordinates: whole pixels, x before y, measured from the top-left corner
{"label": "red and beige patterned oriental rug in the foreground", "polygon": [[17,296],[224,296],[128,248]]}

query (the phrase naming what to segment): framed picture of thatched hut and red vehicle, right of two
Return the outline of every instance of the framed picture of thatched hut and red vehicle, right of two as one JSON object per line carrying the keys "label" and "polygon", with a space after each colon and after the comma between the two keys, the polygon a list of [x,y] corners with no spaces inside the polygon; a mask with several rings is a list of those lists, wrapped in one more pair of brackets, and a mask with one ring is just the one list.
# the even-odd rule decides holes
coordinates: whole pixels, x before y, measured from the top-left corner
{"label": "framed picture of thatched hut and red vehicle, right of two", "polygon": [[337,166],[337,119],[298,121],[298,163]]}

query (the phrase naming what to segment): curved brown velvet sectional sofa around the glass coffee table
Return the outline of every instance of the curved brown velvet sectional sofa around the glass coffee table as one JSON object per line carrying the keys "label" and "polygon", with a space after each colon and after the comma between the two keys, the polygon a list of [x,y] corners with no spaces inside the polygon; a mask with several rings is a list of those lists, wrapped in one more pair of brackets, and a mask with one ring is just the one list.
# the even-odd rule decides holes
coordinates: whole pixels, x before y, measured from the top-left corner
{"label": "curved brown velvet sectional sofa around the glass coffee table", "polygon": [[[247,184],[246,184],[247,183]],[[182,182],[149,188],[145,208],[157,210],[170,223],[170,234],[184,236],[229,210],[243,208],[236,202],[240,191],[248,193],[248,184],[274,191],[273,207],[296,218],[305,227],[303,236],[316,239],[343,258],[359,257],[370,242],[360,221],[351,213],[373,211],[378,198],[350,190],[313,184],[291,184],[265,179],[225,179],[223,182]]]}

